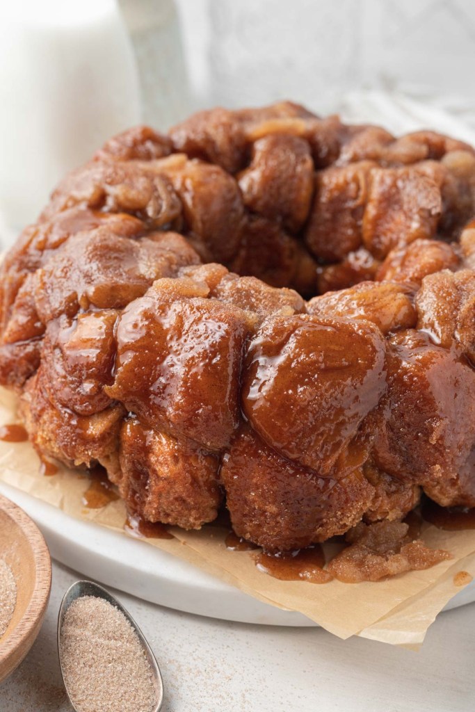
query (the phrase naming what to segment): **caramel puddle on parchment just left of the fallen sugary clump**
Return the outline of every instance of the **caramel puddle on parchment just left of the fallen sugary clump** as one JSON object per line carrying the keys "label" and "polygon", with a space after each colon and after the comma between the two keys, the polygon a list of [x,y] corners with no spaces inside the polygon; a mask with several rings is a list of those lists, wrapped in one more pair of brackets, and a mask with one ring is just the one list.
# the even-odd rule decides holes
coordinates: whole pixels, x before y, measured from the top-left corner
{"label": "caramel puddle on parchment just left of the fallen sugary clump", "polygon": [[296,551],[256,555],[256,566],[269,576],[281,581],[308,581],[310,583],[328,583],[333,579],[325,571],[325,555],[319,544]]}

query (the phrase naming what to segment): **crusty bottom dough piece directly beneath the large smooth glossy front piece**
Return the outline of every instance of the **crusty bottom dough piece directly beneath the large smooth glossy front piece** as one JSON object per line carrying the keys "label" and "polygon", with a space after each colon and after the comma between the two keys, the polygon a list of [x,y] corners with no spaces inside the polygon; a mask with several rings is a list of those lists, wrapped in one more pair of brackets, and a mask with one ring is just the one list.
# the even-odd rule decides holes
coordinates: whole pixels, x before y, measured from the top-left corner
{"label": "crusty bottom dough piece directly beneath the large smooth glossy front piece", "polygon": [[266,550],[296,549],[343,534],[370,506],[374,489],[357,464],[319,477],[241,426],[221,465],[236,533]]}

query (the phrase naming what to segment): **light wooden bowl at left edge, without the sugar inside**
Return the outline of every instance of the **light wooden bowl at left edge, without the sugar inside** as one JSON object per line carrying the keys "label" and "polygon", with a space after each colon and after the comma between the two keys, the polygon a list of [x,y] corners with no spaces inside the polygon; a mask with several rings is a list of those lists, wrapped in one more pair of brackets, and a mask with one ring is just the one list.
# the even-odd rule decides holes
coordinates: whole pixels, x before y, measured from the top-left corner
{"label": "light wooden bowl at left edge, without the sugar inside", "polygon": [[35,523],[0,495],[0,557],[16,580],[16,606],[0,637],[0,682],[24,659],[38,635],[51,590],[51,558]]}

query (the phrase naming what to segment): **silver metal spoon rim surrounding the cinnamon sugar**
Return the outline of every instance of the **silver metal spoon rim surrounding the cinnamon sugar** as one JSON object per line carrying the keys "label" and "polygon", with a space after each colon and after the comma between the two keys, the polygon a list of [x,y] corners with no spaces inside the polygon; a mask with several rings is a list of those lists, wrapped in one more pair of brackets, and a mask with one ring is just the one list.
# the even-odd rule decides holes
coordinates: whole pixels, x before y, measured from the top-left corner
{"label": "silver metal spoon rim surrounding the cinnamon sugar", "polygon": [[155,655],[152,653],[152,650],[150,649],[150,645],[145,640],[145,637],[142,634],[142,631],[140,630],[140,628],[137,626],[137,623],[135,622],[135,620],[132,618],[130,613],[127,612],[127,610],[122,606],[122,604],[115,597],[113,597],[113,595],[111,595],[108,591],[106,591],[105,588],[98,585],[97,583],[94,583],[93,581],[76,581],[75,583],[73,583],[73,585],[71,587],[69,587],[68,590],[66,591],[66,593],[63,597],[63,600],[61,601],[61,606],[59,608],[59,615],[58,615],[59,662],[61,665],[61,675],[63,676],[63,683],[64,683],[64,686],[66,689],[66,694],[68,696],[68,700],[71,703],[71,706],[73,707],[74,710],[76,710],[74,703],[71,700],[71,697],[69,695],[69,691],[66,686],[66,682],[64,681],[63,659],[61,656],[61,628],[63,627],[64,616],[65,616],[68,608],[71,606],[71,603],[73,603],[73,601],[75,601],[77,598],[82,598],[83,596],[95,596],[98,598],[103,598],[105,601],[108,601],[108,603],[112,604],[118,610],[120,610],[120,612],[123,613],[125,615],[125,617],[127,618],[128,622],[134,629],[135,634],[137,635],[137,638],[140,641],[140,644],[142,645],[145,656],[147,658],[148,663],[150,664],[150,669],[152,671],[152,678],[153,678],[153,683],[155,686],[155,694],[157,697],[157,704],[152,709],[152,712],[160,712],[160,709],[162,708],[162,703],[163,703],[163,681],[162,681],[162,675],[160,674],[160,668],[159,668],[157,661],[155,659]]}

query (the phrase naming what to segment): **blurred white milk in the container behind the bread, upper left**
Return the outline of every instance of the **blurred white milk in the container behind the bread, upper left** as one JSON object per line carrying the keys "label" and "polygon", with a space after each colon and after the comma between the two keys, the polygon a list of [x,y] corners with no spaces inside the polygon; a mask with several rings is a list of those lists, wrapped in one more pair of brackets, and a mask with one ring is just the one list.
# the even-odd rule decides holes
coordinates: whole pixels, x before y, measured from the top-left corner
{"label": "blurred white milk in the container behind the bread, upper left", "polygon": [[115,0],[0,2],[0,211],[34,220],[51,189],[140,122],[130,39]]}

